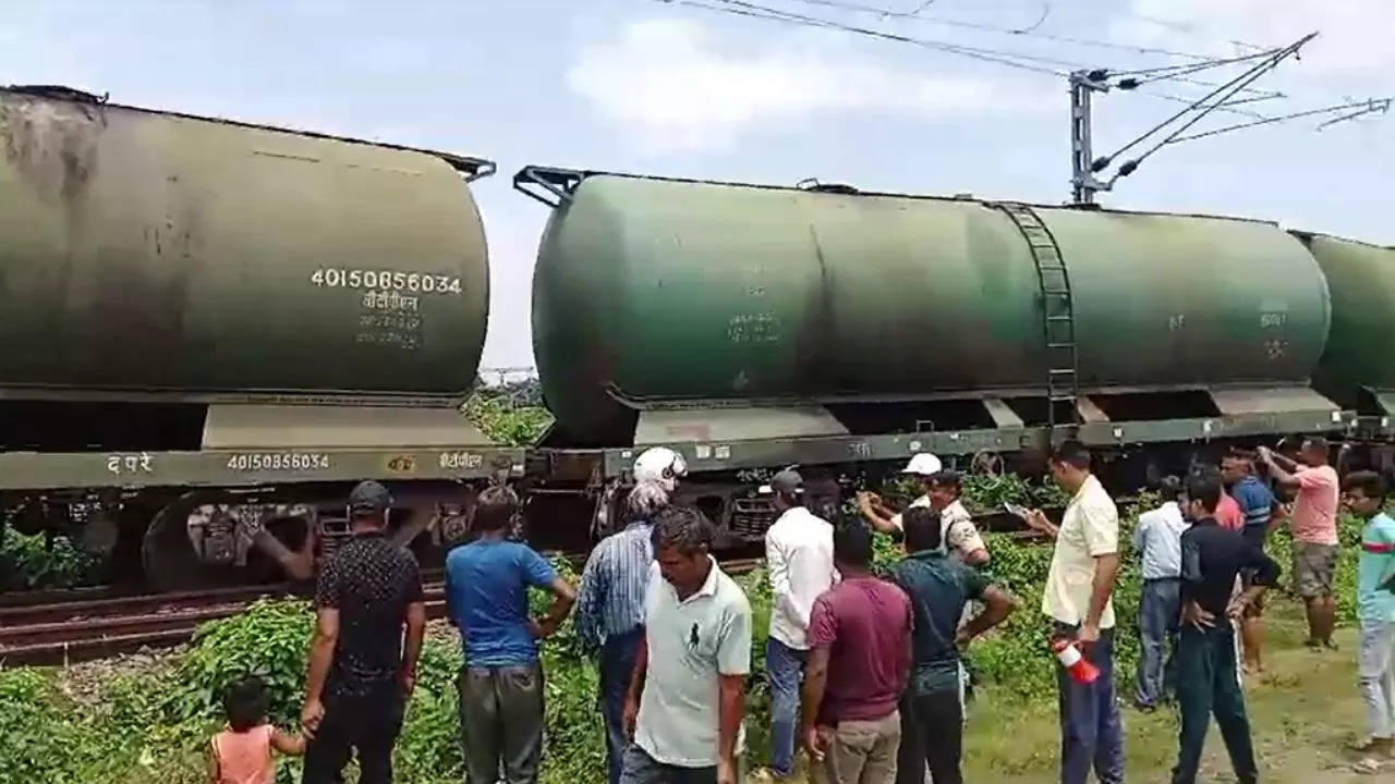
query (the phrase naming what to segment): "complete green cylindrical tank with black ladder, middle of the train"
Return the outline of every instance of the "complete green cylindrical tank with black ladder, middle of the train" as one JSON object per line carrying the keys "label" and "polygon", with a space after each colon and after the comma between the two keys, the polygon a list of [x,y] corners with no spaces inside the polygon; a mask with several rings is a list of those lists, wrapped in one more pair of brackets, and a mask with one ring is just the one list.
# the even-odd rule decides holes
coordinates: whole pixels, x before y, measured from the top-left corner
{"label": "complete green cylindrical tank with black ladder, middle of the train", "polygon": [[[1041,208],[1076,289],[1083,391],[1303,382],[1328,328],[1267,223]],[[544,395],[600,439],[654,402],[1045,393],[1021,232],[975,199],[593,174],[533,279]]]}

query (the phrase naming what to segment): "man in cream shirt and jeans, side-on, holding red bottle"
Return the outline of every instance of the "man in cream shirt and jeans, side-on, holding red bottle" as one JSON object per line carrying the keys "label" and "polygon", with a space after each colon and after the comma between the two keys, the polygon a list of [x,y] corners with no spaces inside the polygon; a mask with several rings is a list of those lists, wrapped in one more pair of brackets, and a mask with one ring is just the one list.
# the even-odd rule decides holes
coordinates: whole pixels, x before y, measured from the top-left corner
{"label": "man in cream shirt and jeans, side-on, holding red bottle", "polygon": [[1060,527],[1041,509],[1027,515],[1027,525],[1056,540],[1042,612],[1052,619],[1053,638],[1074,640],[1099,668],[1099,678],[1091,684],[1078,684],[1066,668],[1056,668],[1060,781],[1085,784],[1094,767],[1099,784],[1122,784],[1124,739],[1115,703],[1115,607],[1110,598],[1119,575],[1119,511],[1089,473],[1089,452],[1080,442],[1067,441],[1056,449],[1050,473],[1071,499]]}

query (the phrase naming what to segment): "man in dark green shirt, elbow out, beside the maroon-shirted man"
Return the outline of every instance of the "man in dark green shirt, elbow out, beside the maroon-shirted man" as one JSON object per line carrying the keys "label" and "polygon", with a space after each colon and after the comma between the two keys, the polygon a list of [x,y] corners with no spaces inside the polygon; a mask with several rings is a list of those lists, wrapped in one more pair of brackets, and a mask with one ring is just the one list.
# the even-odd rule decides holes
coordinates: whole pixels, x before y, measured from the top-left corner
{"label": "man in dark green shirt, elbow out, beside the maroon-shirted man", "polygon": [[[960,646],[1002,624],[1016,601],[978,569],[944,555],[939,512],[914,506],[905,511],[904,525],[907,557],[891,569],[891,582],[911,597],[915,629],[897,783],[922,781],[929,764],[935,784],[961,784]],[[970,600],[986,608],[960,628]]]}

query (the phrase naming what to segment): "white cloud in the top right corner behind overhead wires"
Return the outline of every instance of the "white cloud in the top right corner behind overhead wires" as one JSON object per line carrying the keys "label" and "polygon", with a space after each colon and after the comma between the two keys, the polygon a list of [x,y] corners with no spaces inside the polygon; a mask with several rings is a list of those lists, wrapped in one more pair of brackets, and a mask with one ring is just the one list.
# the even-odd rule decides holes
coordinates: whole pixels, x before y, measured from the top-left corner
{"label": "white cloud in the top right corner behind overhead wires", "polygon": [[1395,68],[1395,0],[1131,0],[1130,11],[1112,22],[1119,40],[1236,54],[1235,42],[1281,46],[1318,31],[1295,74],[1388,81]]}

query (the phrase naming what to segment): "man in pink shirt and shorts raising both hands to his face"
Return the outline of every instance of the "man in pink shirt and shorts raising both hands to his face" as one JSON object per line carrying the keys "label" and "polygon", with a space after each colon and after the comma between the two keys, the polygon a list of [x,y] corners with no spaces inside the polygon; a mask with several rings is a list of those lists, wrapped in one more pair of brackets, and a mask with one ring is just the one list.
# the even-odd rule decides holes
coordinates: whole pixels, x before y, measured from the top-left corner
{"label": "man in pink shirt and shorts raising both hands to his face", "polygon": [[1299,465],[1260,446],[1269,476],[1297,488],[1289,527],[1293,532],[1293,587],[1307,603],[1309,647],[1329,647],[1336,624],[1332,572],[1336,569],[1336,509],[1341,483],[1327,463],[1325,438],[1309,437],[1299,451]]}

